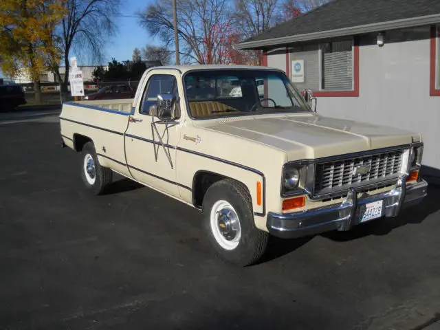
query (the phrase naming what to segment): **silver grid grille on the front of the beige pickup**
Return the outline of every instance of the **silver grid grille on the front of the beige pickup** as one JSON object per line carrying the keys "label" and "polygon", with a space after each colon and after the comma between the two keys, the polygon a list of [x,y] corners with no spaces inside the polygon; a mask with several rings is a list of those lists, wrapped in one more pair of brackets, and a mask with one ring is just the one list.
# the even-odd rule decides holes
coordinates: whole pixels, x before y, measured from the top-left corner
{"label": "silver grid grille on the front of the beige pickup", "polygon": [[[363,186],[397,177],[401,170],[403,150],[377,153],[316,164],[314,195],[323,195],[351,186]],[[371,166],[366,174],[354,174],[357,166]]]}

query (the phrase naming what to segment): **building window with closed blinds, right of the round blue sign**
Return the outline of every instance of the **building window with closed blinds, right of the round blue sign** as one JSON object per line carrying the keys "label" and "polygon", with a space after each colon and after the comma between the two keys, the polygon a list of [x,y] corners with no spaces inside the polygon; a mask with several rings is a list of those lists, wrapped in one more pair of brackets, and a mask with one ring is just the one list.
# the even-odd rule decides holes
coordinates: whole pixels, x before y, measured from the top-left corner
{"label": "building window with closed blinds, right of the round blue sign", "polygon": [[353,41],[320,45],[322,91],[353,90]]}

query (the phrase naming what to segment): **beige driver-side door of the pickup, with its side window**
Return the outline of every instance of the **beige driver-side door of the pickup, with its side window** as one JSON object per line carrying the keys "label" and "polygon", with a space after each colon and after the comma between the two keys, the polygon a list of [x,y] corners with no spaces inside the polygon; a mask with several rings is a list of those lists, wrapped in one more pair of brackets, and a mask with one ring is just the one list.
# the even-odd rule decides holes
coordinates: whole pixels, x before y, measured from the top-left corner
{"label": "beige driver-side door of the pickup, with its side window", "polygon": [[[156,104],[158,94],[178,96],[177,77],[169,74],[151,72],[145,79],[142,97],[135,106],[135,113],[129,119],[125,135],[126,159],[131,175],[137,181],[179,197],[176,180],[176,148],[180,138],[181,122],[157,124],[156,128],[164,142],[160,142],[152,127],[149,113],[151,105]],[[177,101],[179,102],[179,101]],[[180,101],[183,102],[183,101]],[[157,118],[155,118],[157,120]]]}

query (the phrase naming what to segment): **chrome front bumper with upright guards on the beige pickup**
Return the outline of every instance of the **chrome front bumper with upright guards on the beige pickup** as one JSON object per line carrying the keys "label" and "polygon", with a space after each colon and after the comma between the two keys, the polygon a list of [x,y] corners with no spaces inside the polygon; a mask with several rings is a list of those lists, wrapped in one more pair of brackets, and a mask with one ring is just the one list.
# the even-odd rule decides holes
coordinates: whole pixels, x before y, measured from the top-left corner
{"label": "chrome front bumper with upright guards on the beige pickup", "polygon": [[366,203],[383,201],[382,217],[397,217],[403,206],[419,203],[427,195],[428,184],[421,180],[406,186],[406,176],[399,177],[391,191],[377,195],[360,195],[351,188],[342,203],[289,214],[267,214],[267,230],[282,238],[296,238],[327,232],[350,230],[360,223],[360,210]]}

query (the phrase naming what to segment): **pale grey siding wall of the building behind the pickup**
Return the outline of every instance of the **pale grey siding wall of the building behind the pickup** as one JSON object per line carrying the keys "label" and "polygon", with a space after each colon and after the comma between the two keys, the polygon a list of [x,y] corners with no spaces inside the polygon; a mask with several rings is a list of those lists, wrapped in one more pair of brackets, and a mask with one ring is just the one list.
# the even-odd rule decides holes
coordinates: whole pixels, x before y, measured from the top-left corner
{"label": "pale grey siding wall of the building behind the pickup", "polygon": [[[423,164],[440,170],[440,97],[429,95],[428,31],[426,39],[361,45],[360,96],[319,97],[318,113],[421,132]],[[267,63],[285,69],[285,56],[268,55]]]}

